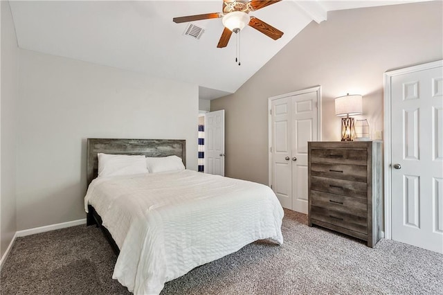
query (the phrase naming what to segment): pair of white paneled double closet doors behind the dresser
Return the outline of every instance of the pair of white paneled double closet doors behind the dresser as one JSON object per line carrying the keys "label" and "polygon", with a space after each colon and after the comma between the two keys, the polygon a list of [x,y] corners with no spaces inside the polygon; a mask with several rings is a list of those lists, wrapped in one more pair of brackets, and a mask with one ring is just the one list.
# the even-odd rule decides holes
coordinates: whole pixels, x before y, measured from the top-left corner
{"label": "pair of white paneled double closet doors behind the dresser", "polygon": [[307,213],[307,142],[320,139],[320,87],[269,98],[269,182],[283,208]]}

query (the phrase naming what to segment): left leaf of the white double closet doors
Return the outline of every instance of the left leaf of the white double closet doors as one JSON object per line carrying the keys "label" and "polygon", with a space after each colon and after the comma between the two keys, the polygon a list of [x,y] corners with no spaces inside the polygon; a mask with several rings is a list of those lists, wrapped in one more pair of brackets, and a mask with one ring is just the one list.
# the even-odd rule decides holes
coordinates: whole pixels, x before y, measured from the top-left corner
{"label": "left leaf of the white double closet doors", "polygon": [[283,208],[292,210],[291,97],[271,101],[271,185]]}

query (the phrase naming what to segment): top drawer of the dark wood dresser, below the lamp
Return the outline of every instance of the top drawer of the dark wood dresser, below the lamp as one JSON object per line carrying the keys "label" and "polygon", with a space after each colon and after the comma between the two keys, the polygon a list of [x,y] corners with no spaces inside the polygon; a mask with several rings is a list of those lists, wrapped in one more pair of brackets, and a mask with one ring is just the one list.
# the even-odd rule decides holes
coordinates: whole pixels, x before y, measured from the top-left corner
{"label": "top drawer of the dark wood dresser, below the lamp", "polygon": [[353,165],[366,165],[368,151],[352,148],[312,148],[312,163],[346,163]]}

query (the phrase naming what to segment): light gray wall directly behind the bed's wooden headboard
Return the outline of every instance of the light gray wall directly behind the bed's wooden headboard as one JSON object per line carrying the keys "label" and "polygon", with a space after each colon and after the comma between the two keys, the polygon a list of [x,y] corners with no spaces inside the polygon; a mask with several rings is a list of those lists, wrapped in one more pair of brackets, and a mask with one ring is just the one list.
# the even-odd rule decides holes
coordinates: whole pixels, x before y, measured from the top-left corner
{"label": "light gray wall directly behind the bed's wooden headboard", "polygon": [[86,138],[186,139],[197,170],[198,91],[20,49],[17,230],[86,217]]}

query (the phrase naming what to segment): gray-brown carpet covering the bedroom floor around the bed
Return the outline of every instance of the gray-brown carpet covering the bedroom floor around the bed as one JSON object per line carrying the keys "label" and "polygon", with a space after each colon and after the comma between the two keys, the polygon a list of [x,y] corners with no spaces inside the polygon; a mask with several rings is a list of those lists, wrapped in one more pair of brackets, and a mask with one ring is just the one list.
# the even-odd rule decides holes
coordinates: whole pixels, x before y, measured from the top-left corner
{"label": "gray-brown carpet covering the bedroom floor around the bed", "polygon": [[[193,269],[162,294],[443,294],[443,256],[307,226],[285,211],[284,244],[266,241]],[[18,238],[1,270],[1,294],[129,294],[112,280],[116,256],[100,230],[74,226]]]}

